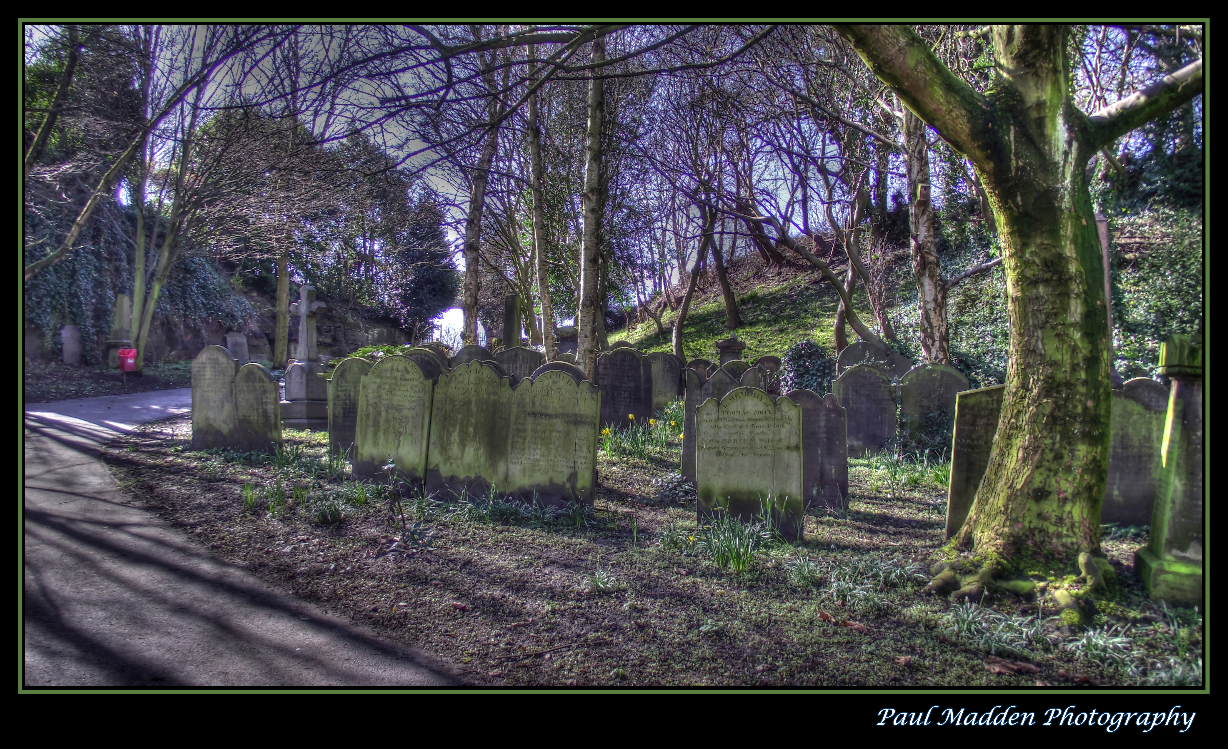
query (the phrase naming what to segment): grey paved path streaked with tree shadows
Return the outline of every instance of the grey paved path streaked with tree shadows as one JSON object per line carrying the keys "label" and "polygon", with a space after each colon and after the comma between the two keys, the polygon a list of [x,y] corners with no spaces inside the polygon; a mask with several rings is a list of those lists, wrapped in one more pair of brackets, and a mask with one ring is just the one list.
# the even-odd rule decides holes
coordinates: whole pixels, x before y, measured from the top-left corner
{"label": "grey paved path streaked with tree shadows", "polygon": [[188,388],[26,404],[25,685],[459,684],[131,503],[98,447],[190,406]]}

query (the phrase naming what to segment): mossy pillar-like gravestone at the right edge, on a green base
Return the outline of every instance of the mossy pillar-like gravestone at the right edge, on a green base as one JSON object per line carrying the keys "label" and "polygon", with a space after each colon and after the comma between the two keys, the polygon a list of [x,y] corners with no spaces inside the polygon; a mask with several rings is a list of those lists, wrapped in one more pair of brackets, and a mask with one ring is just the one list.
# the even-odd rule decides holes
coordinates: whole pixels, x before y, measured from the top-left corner
{"label": "mossy pillar-like gravestone at the right edge, on a green base", "polygon": [[1160,345],[1159,371],[1169,378],[1163,469],[1147,548],[1135,555],[1152,598],[1185,604],[1203,603],[1202,366],[1202,346],[1191,338]]}

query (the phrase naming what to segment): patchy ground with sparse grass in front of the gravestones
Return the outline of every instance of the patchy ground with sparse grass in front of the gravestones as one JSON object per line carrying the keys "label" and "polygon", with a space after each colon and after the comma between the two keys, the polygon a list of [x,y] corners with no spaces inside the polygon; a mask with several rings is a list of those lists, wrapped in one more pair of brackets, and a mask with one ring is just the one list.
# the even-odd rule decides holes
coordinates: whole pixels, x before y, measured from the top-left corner
{"label": "patchy ground with sparse grass in front of the gravestones", "polygon": [[[694,540],[702,532],[675,438],[641,458],[603,451],[594,511],[550,514],[485,497],[398,508],[329,464],[319,433],[287,432],[276,459],[192,452],[189,436],[189,416],[152,422],[104,459],[146,507],[221,559],[448,658],[473,684],[1172,683],[1189,679],[1201,653],[1201,616],[1141,594],[1137,534],[1105,543],[1124,593],[1099,604],[1099,635],[1079,647],[1070,642],[1083,634],[1035,603],[971,609],[926,594],[943,543],[941,469],[851,462],[846,512],[812,512],[804,543],[768,543],[736,575]],[[990,615],[998,630],[1032,634],[953,629]]]}

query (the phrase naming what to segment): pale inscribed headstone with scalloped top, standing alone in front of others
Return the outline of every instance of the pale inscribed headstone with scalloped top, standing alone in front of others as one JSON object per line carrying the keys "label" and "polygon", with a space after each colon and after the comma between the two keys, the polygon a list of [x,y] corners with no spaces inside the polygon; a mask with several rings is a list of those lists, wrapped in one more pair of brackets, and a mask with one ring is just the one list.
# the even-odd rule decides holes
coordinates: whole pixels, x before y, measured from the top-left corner
{"label": "pale inscribed headstone with scalloped top, standing alone in front of others", "polygon": [[717,507],[742,521],[771,513],[781,535],[802,538],[802,409],[737,388],[696,410],[699,518]]}

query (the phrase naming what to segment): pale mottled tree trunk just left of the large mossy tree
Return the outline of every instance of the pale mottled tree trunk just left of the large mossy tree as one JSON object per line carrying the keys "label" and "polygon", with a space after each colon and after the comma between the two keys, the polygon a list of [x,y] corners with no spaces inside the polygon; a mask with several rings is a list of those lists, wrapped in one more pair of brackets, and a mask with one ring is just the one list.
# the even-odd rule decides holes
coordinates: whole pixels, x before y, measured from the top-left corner
{"label": "pale mottled tree trunk just left of the large mossy tree", "polygon": [[933,204],[930,201],[930,156],[925,123],[904,111],[904,162],[909,174],[909,249],[917,284],[921,314],[921,351],[935,365],[950,363],[947,334],[947,282],[933,243]]}

